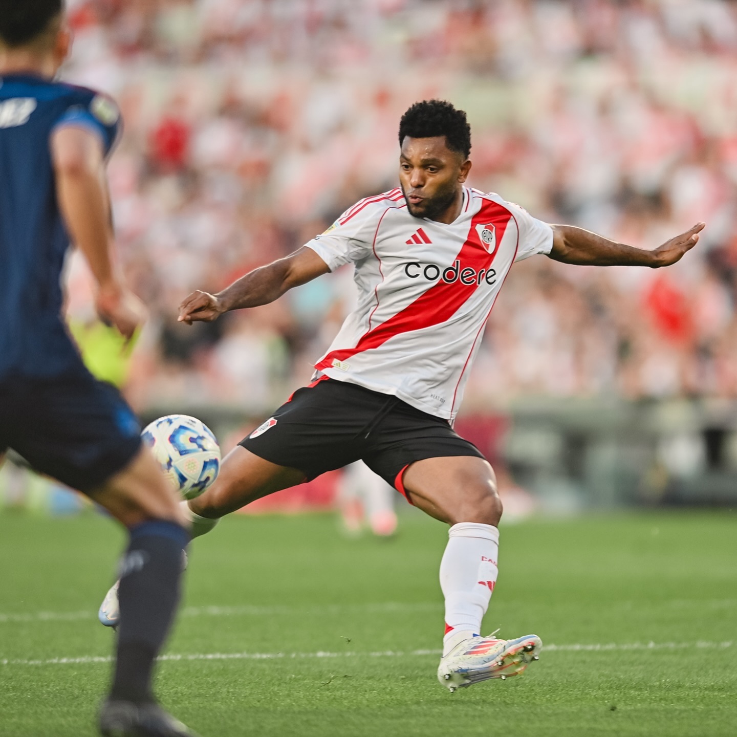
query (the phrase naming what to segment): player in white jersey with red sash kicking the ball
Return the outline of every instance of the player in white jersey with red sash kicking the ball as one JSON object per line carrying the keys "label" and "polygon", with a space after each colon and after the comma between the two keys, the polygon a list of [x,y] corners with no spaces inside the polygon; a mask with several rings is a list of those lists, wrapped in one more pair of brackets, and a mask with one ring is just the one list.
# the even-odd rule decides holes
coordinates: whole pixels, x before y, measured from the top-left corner
{"label": "player in white jersey with red sash kicking the ball", "polygon": [[693,248],[704,225],[643,251],[542,223],[499,195],[470,189],[470,128],[448,102],[412,105],[399,145],[397,189],[361,200],[324,234],[223,292],[198,291],[181,304],[186,324],[212,321],[268,304],[348,262],[360,292],[312,384],[226,456],[217,481],[187,511],[196,537],[259,497],[363,459],[450,525],[440,565],[446,625],[438,677],[455,691],[523,671],[541,647],[536,635],[481,637],[502,506],[492,467],[453,431],[511,265],[544,254],[569,264],[667,266]]}

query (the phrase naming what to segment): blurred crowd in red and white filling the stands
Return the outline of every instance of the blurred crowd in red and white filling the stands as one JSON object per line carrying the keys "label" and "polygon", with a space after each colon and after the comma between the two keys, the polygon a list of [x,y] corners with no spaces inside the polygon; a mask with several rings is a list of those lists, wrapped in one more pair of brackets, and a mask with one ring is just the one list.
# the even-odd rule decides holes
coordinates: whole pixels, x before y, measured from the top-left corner
{"label": "blurred crowd in red and white filling the stands", "polygon": [[352,301],[349,270],[214,324],[178,324],[178,303],[396,186],[399,117],[429,97],[469,114],[469,183],[536,217],[646,248],[708,223],[668,270],[515,266],[467,406],[737,395],[735,6],[69,0],[65,76],[125,116],[116,231],[152,311],[133,402],[256,415],[307,380]]}

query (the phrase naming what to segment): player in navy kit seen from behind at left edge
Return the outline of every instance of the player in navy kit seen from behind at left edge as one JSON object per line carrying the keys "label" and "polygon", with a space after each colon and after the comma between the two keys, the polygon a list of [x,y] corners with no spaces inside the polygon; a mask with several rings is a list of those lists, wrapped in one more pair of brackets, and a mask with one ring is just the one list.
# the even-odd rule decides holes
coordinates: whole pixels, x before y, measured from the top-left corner
{"label": "player in navy kit seen from behind at left edge", "polygon": [[103,320],[130,339],[145,312],[113,254],[105,159],[119,112],[103,95],[54,81],[70,45],[62,0],[0,3],[0,460],[15,449],[128,528],[99,727],[184,737],[192,733],[156,704],[151,680],[178,605],[189,523],[142,448],[136,417],[86,370],[61,316],[70,240],[97,281]]}

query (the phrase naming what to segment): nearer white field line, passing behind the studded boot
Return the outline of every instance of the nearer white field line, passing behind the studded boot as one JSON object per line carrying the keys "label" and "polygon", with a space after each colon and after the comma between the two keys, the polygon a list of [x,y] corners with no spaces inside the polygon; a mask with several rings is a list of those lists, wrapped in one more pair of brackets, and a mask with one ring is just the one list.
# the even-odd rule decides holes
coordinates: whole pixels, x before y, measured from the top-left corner
{"label": "nearer white field line, passing behind the studded boot", "polygon": [[[724,642],[705,642],[699,640],[695,643],[576,643],[573,645],[545,645],[544,652],[611,652],[628,650],[688,650],[688,649],[725,649],[734,645],[732,640]],[[175,663],[187,660],[291,660],[302,658],[342,658],[342,657],[416,657],[422,655],[441,654],[441,650],[411,650],[402,652],[399,650],[385,650],[383,652],[211,652],[195,653],[189,655],[167,654],[158,657],[160,661],[172,661]],[[26,659],[0,659],[0,666],[74,666],[88,665],[93,663],[112,663],[111,656],[96,657],[88,655],[85,657],[52,657],[46,660]]]}

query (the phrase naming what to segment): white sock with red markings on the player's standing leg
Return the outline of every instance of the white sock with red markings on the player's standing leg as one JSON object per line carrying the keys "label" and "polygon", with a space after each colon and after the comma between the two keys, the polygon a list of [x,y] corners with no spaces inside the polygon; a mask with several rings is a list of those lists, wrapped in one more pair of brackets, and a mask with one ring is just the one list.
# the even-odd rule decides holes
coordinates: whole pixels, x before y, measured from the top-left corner
{"label": "white sock with red markings on the player's standing leg", "polygon": [[445,597],[443,654],[472,635],[481,634],[481,620],[497,581],[499,530],[493,525],[461,522],[448,533],[440,563]]}

